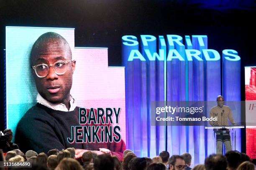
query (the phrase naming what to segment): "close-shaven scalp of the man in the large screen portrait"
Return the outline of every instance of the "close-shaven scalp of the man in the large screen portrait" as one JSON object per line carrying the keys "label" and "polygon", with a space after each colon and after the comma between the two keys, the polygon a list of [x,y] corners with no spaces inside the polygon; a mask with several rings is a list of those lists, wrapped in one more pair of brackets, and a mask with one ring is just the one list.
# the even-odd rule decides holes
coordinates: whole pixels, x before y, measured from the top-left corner
{"label": "close-shaven scalp of the man in the large screen portrait", "polygon": [[42,34],[40,37],[38,37],[38,39],[36,40],[36,42],[34,43],[31,49],[31,54],[30,54],[31,65],[34,65],[36,57],[39,54],[46,54],[47,52],[52,51],[54,49],[54,48],[51,48],[52,46],[62,48],[65,52],[67,52],[67,56],[69,57],[69,60],[72,59],[72,52],[67,40],[55,32],[46,32]]}

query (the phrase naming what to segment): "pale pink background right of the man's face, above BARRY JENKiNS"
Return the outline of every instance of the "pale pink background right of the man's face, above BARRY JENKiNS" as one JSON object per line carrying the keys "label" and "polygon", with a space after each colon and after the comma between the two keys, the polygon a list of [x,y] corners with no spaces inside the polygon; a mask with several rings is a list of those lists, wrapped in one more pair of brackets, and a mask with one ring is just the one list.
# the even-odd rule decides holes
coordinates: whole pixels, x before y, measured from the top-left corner
{"label": "pale pink background right of the man's face, above BARRY JENKiNS", "polygon": [[76,60],[76,70],[71,94],[77,100],[77,106],[95,109],[120,107],[118,126],[125,141],[124,67],[108,67],[107,48],[75,48],[72,59]]}

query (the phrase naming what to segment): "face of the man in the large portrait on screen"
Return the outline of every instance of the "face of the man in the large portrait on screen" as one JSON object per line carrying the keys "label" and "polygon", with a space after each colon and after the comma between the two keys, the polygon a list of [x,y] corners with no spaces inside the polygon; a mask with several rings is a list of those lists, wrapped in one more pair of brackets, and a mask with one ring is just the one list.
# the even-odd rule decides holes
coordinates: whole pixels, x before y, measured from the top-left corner
{"label": "face of the man in the large portrait on screen", "polygon": [[[75,61],[70,61],[71,58],[69,45],[60,38],[40,42],[36,50],[31,54],[31,64],[33,66],[48,65],[48,74],[46,72],[47,75],[45,74],[45,77],[38,77],[34,70],[33,76],[39,94],[49,102],[60,103],[69,99],[72,75],[75,69]],[[64,74],[59,74],[61,72],[58,72],[58,67],[61,66],[59,62],[61,61],[66,61],[66,71]],[[45,68],[45,65],[40,67]]]}

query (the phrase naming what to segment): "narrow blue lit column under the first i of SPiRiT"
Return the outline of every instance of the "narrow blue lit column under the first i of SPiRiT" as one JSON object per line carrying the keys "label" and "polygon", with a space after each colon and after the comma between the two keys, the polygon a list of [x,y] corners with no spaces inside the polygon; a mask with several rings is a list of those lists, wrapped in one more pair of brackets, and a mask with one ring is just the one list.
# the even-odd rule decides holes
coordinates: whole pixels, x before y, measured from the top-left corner
{"label": "narrow blue lit column under the first i of SPiRiT", "polygon": [[[156,60],[156,101],[165,101],[166,98],[166,43],[164,36],[159,36],[159,53],[164,50],[164,61]],[[156,126],[156,155],[166,150],[166,127]]]}

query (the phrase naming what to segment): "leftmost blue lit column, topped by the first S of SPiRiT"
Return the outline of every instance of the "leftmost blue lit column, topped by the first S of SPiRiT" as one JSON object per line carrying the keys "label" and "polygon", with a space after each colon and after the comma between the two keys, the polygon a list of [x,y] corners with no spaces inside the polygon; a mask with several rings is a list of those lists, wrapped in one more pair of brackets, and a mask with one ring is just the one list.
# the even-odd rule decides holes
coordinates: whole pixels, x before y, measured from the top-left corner
{"label": "leftmost blue lit column, topped by the first S of SPiRiT", "polygon": [[[138,51],[137,37],[128,35],[122,37],[123,66],[125,66],[125,112],[126,112],[126,146],[140,155],[141,142],[140,118],[141,112],[141,70],[140,60],[128,61],[131,51]],[[135,85],[135,86],[133,86]],[[135,95],[135,96],[134,96]],[[136,145],[134,143],[136,141]]]}

